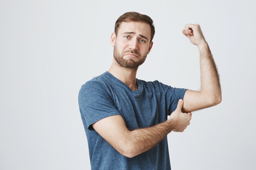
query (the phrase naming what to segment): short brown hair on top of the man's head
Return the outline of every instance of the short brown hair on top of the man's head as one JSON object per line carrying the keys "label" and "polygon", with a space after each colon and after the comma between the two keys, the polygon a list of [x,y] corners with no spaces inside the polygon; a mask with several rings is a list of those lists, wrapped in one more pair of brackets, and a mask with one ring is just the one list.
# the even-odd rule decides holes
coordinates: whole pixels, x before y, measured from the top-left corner
{"label": "short brown hair on top of the man's head", "polygon": [[120,27],[120,24],[122,22],[129,22],[129,21],[148,23],[150,25],[150,29],[151,29],[150,42],[153,40],[153,37],[155,35],[155,26],[153,25],[153,20],[148,15],[140,14],[138,12],[126,12],[117,19],[117,21],[115,23],[116,35],[117,35],[118,29]]}

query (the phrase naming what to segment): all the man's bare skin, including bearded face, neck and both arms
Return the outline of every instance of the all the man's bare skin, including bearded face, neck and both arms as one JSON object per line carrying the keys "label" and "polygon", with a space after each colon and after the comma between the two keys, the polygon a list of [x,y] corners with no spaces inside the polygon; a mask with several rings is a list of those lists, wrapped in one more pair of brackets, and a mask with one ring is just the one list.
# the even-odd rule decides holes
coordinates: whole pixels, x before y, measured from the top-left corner
{"label": "all the man's bare skin, including bearded face, neck and both arms", "polygon": [[[94,130],[125,157],[135,157],[149,150],[171,131],[183,132],[190,124],[191,111],[221,102],[218,71],[200,25],[186,24],[182,33],[192,44],[198,46],[201,90],[187,90],[184,100],[179,100],[176,110],[169,119],[152,127],[130,131],[120,115],[106,117],[92,124]],[[143,22],[122,22],[117,35],[111,35],[114,58],[108,71],[134,91],[138,89],[137,68],[146,60],[153,46],[153,42],[148,41],[150,36],[150,26]]]}

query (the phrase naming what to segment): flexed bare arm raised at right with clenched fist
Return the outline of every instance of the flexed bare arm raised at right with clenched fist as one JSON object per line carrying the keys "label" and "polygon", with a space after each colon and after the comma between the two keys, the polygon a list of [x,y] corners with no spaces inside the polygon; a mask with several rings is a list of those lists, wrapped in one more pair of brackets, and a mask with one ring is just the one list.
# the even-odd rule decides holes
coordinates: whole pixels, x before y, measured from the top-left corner
{"label": "flexed bare arm raised at right with clenched fist", "polygon": [[220,78],[211,50],[204,39],[199,24],[186,24],[182,31],[200,53],[200,91],[187,90],[184,95],[183,112],[191,112],[219,104],[222,100]]}

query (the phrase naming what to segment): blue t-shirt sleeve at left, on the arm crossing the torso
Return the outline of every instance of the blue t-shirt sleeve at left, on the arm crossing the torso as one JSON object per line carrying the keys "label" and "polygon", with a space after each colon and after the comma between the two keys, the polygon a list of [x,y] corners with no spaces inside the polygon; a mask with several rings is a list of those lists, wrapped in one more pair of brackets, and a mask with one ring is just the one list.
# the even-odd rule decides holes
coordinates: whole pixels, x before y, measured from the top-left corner
{"label": "blue t-shirt sleeve at left, on the arm crossing the torso", "polygon": [[94,130],[91,125],[103,118],[121,115],[107,89],[97,81],[89,81],[81,86],[78,102],[81,116],[89,130]]}

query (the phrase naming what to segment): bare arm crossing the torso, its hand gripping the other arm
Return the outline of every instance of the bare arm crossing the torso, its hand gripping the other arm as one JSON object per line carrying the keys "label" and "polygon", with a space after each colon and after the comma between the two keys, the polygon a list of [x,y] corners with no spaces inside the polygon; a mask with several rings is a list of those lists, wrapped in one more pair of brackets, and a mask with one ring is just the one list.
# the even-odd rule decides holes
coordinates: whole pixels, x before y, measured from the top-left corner
{"label": "bare arm crossing the torso, its hand gripping the other arm", "polygon": [[191,120],[191,113],[182,113],[182,105],[180,99],[168,120],[148,128],[130,131],[120,115],[101,119],[92,127],[121,155],[132,158],[157,145],[171,131],[184,131]]}

